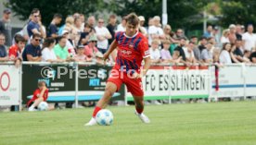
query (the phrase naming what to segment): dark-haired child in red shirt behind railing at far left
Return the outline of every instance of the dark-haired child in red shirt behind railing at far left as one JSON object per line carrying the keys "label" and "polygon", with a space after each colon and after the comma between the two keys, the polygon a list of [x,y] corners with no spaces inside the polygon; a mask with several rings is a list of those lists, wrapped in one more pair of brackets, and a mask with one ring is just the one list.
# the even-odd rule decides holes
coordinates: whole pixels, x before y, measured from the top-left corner
{"label": "dark-haired child in red shirt behind railing at far left", "polygon": [[20,66],[25,44],[25,38],[18,34],[15,37],[15,44],[9,48],[9,59],[15,62],[15,66]]}

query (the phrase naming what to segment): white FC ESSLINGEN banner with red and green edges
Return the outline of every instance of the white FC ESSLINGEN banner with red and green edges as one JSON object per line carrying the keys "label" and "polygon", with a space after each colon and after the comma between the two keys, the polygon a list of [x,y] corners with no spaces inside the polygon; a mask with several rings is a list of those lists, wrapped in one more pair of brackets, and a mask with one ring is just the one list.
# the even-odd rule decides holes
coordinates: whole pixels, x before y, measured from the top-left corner
{"label": "white FC ESSLINGEN banner with red and green edges", "polygon": [[[151,66],[143,88],[145,100],[207,98],[210,73],[208,66]],[[129,92],[127,100],[133,100]]]}

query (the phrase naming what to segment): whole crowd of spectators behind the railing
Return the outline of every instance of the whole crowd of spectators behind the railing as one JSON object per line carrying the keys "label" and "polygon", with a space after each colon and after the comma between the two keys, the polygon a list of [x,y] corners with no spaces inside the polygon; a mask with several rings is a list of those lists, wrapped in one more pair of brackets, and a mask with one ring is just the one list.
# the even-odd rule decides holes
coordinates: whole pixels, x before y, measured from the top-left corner
{"label": "whole crowd of spectators behind the railing", "polygon": [[[125,30],[126,19],[117,24],[117,16],[104,18],[74,13],[65,18],[55,14],[51,23],[44,26],[40,10],[32,9],[29,22],[11,37],[10,9],[5,9],[0,20],[0,61],[61,63],[69,61],[102,64],[103,54],[114,40],[115,32]],[[147,36],[153,64],[232,64],[256,63],[256,34],[253,25],[230,24],[228,29],[209,25],[200,37],[186,37],[183,29],[172,30],[171,25],[161,26],[160,17],[146,19],[139,16],[138,31]],[[107,25],[106,25],[107,24]],[[110,54],[114,62],[116,51]]]}

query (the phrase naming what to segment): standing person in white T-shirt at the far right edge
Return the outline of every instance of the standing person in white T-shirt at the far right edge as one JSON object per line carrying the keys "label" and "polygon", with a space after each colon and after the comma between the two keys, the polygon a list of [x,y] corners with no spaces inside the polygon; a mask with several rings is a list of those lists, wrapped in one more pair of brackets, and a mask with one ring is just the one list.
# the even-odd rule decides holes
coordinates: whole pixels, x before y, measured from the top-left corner
{"label": "standing person in white T-shirt at the far right edge", "polygon": [[244,49],[251,51],[256,45],[256,35],[253,33],[253,25],[250,24],[247,27],[247,32],[243,34]]}

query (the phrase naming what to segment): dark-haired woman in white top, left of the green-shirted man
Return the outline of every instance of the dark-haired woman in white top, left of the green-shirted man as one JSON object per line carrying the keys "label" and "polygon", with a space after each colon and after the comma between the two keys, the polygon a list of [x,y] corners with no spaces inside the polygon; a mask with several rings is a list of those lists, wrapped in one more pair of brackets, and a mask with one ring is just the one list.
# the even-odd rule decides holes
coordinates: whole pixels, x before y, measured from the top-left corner
{"label": "dark-haired woman in white top, left of the green-shirted man", "polygon": [[54,52],[55,46],[55,39],[54,38],[46,38],[45,42],[43,43],[42,48],[42,61],[43,62],[63,62],[63,60],[58,59],[57,55]]}

